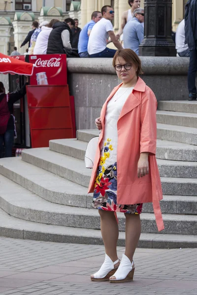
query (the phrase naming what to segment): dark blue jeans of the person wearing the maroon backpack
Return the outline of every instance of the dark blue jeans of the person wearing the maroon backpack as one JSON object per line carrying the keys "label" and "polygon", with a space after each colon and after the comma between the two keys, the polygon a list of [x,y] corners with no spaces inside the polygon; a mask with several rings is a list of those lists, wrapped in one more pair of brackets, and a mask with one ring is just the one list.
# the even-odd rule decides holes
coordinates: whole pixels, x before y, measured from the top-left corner
{"label": "dark blue jeans of the person wearing the maroon backpack", "polygon": [[12,146],[14,142],[14,130],[7,130],[0,135],[0,158],[3,157],[3,143],[5,148],[5,158],[12,156]]}

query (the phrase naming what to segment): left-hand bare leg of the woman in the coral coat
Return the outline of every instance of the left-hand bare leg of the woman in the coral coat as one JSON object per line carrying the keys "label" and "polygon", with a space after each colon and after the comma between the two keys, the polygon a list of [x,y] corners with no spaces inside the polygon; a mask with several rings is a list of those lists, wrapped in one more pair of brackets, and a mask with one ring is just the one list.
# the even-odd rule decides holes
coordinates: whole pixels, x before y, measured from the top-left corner
{"label": "left-hand bare leg of the woman in the coral coat", "polygon": [[[105,247],[105,253],[113,262],[118,260],[117,256],[117,241],[118,241],[118,224],[114,212],[100,210],[100,230]],[[117,263],[114,267],[119,266]],[[94,275],[91,275],[94,278]]]}

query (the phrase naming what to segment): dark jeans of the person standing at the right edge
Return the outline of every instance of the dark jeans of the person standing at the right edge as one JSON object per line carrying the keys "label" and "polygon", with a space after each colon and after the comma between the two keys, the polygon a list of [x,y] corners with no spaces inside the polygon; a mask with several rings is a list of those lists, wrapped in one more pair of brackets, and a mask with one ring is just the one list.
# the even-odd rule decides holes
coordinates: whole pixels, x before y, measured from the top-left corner
{"label": "dark jeans of the person standing at the right edge", "polygon": [[190,64],[188,69],[188,89],[190,93],[197,93],[196,74],[197,74],[197,50],[191,50]]}

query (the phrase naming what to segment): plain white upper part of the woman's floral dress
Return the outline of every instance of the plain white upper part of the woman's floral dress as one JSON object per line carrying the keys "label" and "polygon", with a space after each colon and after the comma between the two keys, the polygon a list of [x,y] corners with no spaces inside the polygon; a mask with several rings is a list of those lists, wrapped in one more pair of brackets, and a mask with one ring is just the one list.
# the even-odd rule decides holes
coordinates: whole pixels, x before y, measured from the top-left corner
{"label": "plain white upper part of the woman's floral dress", "polygon": [[105,160],[104,167],[115,163],[117,161],[117,146],[118,146],[118,128],[117,123],[120,117],[122,108],[131,94],[133,87],[122,88],[120,87],[114,96],[108,101],[106,113],[105,113],[105,128],[102,143],[100,147],[103,147],[101,150],[101,155],[104,155],[104,143],[109,139],[110,144],[112,145],[113,150],[110,150],[110,156]]}

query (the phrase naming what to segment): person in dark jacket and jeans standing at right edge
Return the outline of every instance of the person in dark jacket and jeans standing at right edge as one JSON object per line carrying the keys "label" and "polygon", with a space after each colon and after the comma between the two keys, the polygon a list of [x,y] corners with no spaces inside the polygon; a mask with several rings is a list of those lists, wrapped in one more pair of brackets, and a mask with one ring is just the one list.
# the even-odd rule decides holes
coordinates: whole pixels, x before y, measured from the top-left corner
{"label": "person in dark jacket and jeans standing at right edge", "polygon": [[190,65],[188,69],[188,100],[197,99],[197,0],[189,0],[185,6],[185,43],[190,50]]}

